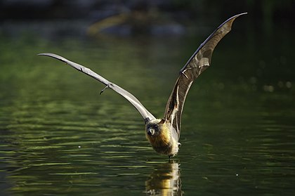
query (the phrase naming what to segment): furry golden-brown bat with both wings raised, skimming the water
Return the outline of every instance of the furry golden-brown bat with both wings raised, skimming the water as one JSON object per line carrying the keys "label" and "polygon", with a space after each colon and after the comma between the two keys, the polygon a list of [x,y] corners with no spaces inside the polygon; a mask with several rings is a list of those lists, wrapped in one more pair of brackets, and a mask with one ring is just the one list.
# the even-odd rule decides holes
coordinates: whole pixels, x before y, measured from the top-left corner
{"label": "furry golden-brown bat with both wings raised, skimming the water", "polygon": [[121,96],[129,100],[136,107],[145,121],[145,136],[152,145],[152,148],[163,155],[168,155],[169,158],[178,153],[179,137],[181,135],[181,114],[183,105],[188,94],[192,82],[195,81],[199,74],[204,72],[211,63],[211,55],[219,41],[230,32],[232,22],[235,18],[246,13],[240,13],[225,20],[214,32],[197,48],[197,51],[192,54],[187,63],[181,69],[176,84],[173,87],[169,100],[166,104],[166,110],[162,119],[155,118],[140,101],[128,91],[122,89],[117,84],[114,84],[107,79],[101,77],[96,72],[93,72],[87,67],[74,63],[60,55],[53,53],[40,53],[52,58],[63,61],[67,65],[74,67],[76,70],[93,77],[94,79],[105,84],[105,88],[100,91],[103,93],[105,89],[112,89]]}

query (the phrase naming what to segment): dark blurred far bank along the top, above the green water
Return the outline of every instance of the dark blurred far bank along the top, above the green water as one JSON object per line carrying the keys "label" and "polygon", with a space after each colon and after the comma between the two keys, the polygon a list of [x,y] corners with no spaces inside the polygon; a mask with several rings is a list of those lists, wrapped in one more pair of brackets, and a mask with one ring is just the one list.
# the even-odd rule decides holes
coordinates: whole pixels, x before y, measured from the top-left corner
{"label": "dark blurred far bank along the top, above the green water", "polygon": [[[294,8],[294,0],[1,0],[0,24],[18,20],[84,20],[93,25],[103,21],[88,31],[124,35],[183,34],[188,32],[186,25],[192,22],[207,24],[248,12],[248,21],[257,29],[271,31],[275,24],[294,28]],[[105,21],[106,18],[112,20]],[[124,27],[117,27],[122,24]]]}

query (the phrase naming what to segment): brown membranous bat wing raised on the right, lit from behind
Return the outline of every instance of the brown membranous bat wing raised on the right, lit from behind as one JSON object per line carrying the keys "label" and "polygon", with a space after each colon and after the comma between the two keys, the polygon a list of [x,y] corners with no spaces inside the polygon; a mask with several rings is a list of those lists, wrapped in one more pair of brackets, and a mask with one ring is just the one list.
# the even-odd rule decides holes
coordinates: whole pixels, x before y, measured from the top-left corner
{"label": "brown membranous bat wing raised on the right, lit from behind", "polygon": [[165,110],[165,119],[171,122],[173,128],[178,133],[178,138],[181,133],[181,114],[183,112],[183,104],[185,103],[185,97],[188,94],[188,90],[192,85],[192,82],[209,67],[211,63],[211,55],[215,46],[219,41],[230,32],[232,22],[240,15],[246,13],[240,13],[232,16],[225,22],[223,22],[200,46],[197,51],[193,53],[185,66],[181,69],[180,75],[176,81],[173,91],[169,97]]}

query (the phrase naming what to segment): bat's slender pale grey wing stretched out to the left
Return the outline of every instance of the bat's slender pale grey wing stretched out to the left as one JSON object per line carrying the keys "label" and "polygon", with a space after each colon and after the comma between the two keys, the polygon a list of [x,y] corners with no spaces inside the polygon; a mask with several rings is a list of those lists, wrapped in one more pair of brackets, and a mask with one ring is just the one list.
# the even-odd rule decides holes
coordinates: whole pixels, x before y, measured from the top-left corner
{"label": "bat's slender pale grey wing stretched out to the left", "polygon": [[[126,100],[129,100],[129,102],[134,107],[136,107],[138,112],[140,112],[140,115],[145,120],[145,123],[152,120],[152,119],[155,119],[155,117],[150,112],[148,112],[147,109],[145,109],[145,107],[143,107],[143,105],[139,102],[139,100],[135,96],[133,96],[128,91],[122,89],[117,84],[114,84],[114,83],[108,81],[107,79],[101,77],[99,74],[97,74],[96,72],[93,72],[89,68],[84,67],[82,65],[79,65],[77,63],[74,63],[74,62],[72,62],[70,60],[67,60],[66,58],[61,57],[60,55],[55,55],[53,53],[40,53],[39,55],[46,55],[46,56],[50,56],[52,58],[56,58],[58,60],[61,60],[64,63],[67,63],[67,65],[70,65],[71,67],[74,67],[76,70],[78,70],[80,72],[83,72],[84,74],[89,75],[90,77],[93,77],[94,79],[97,79],[101,83],[105,84],[105,88],[110,88],[110,89],[116,91],[121,96],[126,98]],[[103,90],[105,90],[105,89],[103,89]],[[101,92],[103,92],[103,91],[101,91]]]}

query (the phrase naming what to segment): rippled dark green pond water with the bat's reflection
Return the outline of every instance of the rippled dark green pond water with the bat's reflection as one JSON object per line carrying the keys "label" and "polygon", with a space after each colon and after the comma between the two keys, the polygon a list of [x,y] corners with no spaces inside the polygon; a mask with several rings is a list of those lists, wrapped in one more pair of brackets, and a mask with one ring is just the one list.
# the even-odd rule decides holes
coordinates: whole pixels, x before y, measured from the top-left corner
{"label": "rippled dark green pond water with the bat's reflection", "polygon": [[152,150],[128,101],[37,53],[90,67],[162,117],[178,71],[214,27],[183,37],[0,34],[1,195],[293,195],[294,31],[235,25],[192,85],[171,160]]}

